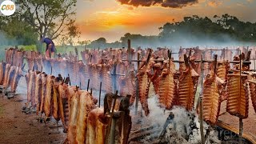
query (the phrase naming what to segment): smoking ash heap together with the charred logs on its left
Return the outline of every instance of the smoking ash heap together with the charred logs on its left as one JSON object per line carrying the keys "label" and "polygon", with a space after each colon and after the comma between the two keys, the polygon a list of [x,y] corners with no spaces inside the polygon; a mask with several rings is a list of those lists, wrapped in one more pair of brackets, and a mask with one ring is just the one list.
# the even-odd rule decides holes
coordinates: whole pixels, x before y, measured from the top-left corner
{"label": "smoking ash heap together with the charred logs on its left", "polygon": [[[163,124],[152,122],[151,126],[131,131],[130,143],[202,143],[198,114],[179,106],[174,106],[165,114],[167,114],[167,118]],[[203,123],[203,127],[207,144],[222,143],[218,140],[217,130],[213,130],[206,122]]]}

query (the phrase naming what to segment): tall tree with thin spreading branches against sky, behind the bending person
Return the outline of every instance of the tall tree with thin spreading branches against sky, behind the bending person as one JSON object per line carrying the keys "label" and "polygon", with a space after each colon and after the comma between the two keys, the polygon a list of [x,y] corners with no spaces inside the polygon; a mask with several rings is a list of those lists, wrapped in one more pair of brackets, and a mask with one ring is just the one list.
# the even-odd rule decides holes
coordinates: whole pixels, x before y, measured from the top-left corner
{"label": "tall tree with thin spreading branches against sky, behind the bending person", "polygon": [[18,16],[30,24],[38,35],[52,39],[70,35],[75,37],[78,26],[74,14],[76,0],[17,0]]}

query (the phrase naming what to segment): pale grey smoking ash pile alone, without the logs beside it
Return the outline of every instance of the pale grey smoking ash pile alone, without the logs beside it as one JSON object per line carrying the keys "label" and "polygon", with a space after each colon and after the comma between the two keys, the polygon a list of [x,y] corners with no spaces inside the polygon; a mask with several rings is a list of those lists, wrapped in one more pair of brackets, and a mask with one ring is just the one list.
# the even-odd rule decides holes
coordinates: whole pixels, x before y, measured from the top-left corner
{"label": "pale grey smoking ash pile alone, without the logs beside it", "polygon": [[[207,135],[206,143],[221,143],[218,131],[212,130],[205,122],[203,125],[204,135]],[[174,107],[155,143],[201,143],[198,115],[184,108]]]}

